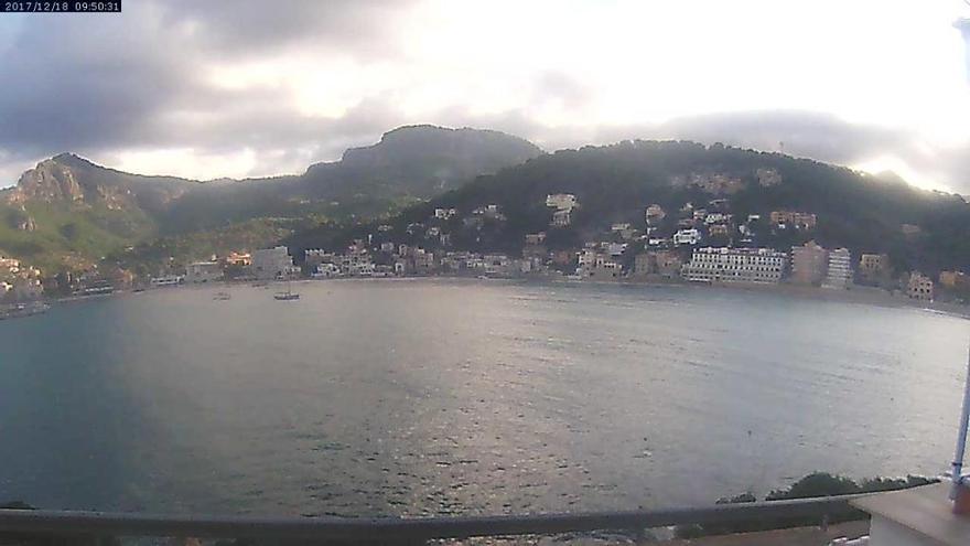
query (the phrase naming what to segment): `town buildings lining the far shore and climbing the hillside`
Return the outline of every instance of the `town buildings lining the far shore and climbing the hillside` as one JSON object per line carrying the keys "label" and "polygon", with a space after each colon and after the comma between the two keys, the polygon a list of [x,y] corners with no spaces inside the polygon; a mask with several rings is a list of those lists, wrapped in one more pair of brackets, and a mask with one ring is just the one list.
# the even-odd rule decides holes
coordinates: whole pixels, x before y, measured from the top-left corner
{"label": "town buildings lining the far shore and climbing the hillside", "polygon": [[[96,296],[115,290],[230,280],[464,276],[793,285],[824,290],[872,287],[920,301],[963,302],[970,293],[970,280],[963,271],[944,270],[936,277],[897,271],[886,254],[823,247],[812,238],[820,218],[810,212],[774,210],[739,218],[726,197],[702,204],[685,203],[676,210],[651,203],[643,207],[638,223],[604,225],[596,238],[562,248],[550,245],[550,240],[558,232],[569,229],[582,203],[574,194],[558,193],[547,195],[545,206],[549,212],[547,228],[525,234],[517,254],[455,248],[460,238],[467,240],[474,236],[481,240],[489,226],[507,222],[502,206],[489,203],[467,214],[453,207],[438,207],[424,222],[409,223],[402,229],[380,224],[366,238],[355,239],[345,248],[306,249],[301,255],[285,246],[240,249],[171,267],[149,279],[138,279],[122,269],[45,279],[36,268],[0,257],[0,289],[6,302],[15,302],[40,299],[45,290],[50,292],[51,286],[60,288],[62,295],[67,288],[72,296]],[[902,229],[917,233],[919,228],[904,225]],[[766,233],[795,234],[808,240],[787,249],[759,246],[758,240]]]}

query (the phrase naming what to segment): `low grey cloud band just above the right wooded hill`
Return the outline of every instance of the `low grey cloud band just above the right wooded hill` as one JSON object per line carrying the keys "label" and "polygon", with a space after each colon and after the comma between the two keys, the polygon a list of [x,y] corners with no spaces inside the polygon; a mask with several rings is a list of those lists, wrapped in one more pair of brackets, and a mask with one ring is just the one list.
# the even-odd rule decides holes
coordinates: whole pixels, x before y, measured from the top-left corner
{"label": "low grey cloud band just above the right wooded hill", "polygon": [[872,172],[895,171],[924,188],[970,193],[970,143],[928,143],[902,127],[855,124],[809,110],[754,110],[673,118],[660,124],[547,127],[520,110],[492,116],[450,111],[461,124],[505,130],[547,150],[635,139],[721,142],[782,151]]}

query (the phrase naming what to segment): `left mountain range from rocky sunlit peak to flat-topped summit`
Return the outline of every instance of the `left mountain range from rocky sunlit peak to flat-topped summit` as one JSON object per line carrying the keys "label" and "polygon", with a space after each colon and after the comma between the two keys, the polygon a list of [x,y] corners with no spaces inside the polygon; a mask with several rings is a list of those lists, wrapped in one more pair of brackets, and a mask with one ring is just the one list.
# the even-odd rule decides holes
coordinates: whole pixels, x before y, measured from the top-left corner
{"label": "left mountain range from rocky sunlit peak to flat-topped summit", "polygon": [[294,218],[381,215],[540,153],[498,131],[411,126],[300,175],[208,182],[131,174],[62,153],[0,191],[0,254],[47,269],[85,268],[159,236],[238,234],[237,224],[281,233],[279,223]]}

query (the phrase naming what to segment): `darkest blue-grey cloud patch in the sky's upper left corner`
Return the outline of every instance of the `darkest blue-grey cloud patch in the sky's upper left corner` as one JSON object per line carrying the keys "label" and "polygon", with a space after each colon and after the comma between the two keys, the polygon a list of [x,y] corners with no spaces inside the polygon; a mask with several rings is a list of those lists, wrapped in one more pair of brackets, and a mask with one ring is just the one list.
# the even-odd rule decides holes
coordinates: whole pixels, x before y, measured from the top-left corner
{"label": "darkest blue-grey cloud patch in the sky's upper left corner", "polygon": [[0,53],[0,148],[33,153],[138,140],[151,116],[192,94],[177,49],[146,41],[149,21],[123,18],[26,21]]}

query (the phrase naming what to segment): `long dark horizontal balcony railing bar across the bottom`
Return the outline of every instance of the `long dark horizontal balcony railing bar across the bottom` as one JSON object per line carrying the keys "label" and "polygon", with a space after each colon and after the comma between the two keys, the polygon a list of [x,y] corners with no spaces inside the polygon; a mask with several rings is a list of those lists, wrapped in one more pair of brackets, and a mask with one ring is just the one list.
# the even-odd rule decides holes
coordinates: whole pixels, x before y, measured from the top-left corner
{"label": "long dark horizontal balcony railing bar across the bottom", "polygon": [[718,504],[704,507],[573,514],[428,518],[165,516],[105,512],[0,510],[2,535],[85,537],[196,537],[327,542],[421,543],[442,538],[556,535],[594,531],[640,534],[673,525],[765,521],[829,521],[858,515],[849,502],[865,495]]}

